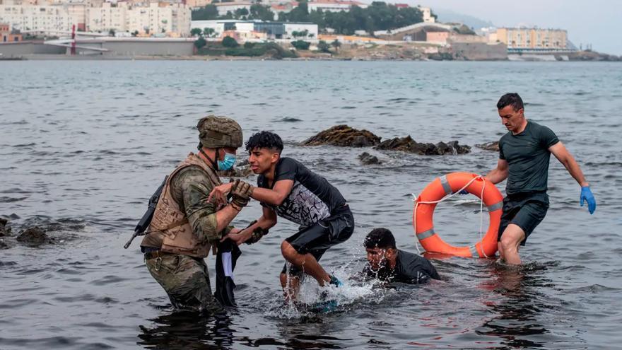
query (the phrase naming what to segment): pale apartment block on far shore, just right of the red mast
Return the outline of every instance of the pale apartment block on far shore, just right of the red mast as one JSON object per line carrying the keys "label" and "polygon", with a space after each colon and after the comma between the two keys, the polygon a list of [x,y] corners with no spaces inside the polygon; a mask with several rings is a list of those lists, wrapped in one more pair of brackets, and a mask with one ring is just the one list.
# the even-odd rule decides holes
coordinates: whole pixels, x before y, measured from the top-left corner
{"label": "pale apartment block on far shore, just right of the red mast", "polygon": [[87,8],[87,30],[165,34],[187,37],[190,34],[191,11],[185,4],[152,2],[132,5],[127,2],[104,3],[100,8]]}

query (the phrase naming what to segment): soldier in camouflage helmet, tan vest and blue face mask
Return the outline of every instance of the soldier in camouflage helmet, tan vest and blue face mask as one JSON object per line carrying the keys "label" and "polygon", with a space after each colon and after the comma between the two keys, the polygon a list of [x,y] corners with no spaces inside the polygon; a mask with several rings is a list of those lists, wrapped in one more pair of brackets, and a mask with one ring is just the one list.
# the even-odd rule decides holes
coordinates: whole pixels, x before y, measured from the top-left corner
{"label": "soldier in camouflage helmet, tan vest and blue face mask", "polygon": [[141,251],[175,308],[215,311],[220,305],[211,293],[204,257],[223,236],[239,231],[228,225],[250,195],[238,188],[228,204],[207,200],[213,187],[221,185],[216,170],[233,168],[242,129],[233,119],[213,115],[199,120],[196,128],[199,153],[190,153],[166,179]]}

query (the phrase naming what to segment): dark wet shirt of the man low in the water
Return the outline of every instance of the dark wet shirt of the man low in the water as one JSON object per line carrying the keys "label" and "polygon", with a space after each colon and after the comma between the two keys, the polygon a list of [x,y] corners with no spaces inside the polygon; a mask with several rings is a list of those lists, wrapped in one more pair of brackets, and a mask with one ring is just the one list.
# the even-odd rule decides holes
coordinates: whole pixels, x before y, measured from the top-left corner
{"label": "dark wet shirt of the man low in the water", "polygon": [[397,250],[397,261],[394,269],[384,269],[378,273],[372,271],[369,264],[365,265],[363,274],[368,278],[378,278],[387,282],[407,284],[426,283],[429,279],[440,279],[434,265],[425,257]]}

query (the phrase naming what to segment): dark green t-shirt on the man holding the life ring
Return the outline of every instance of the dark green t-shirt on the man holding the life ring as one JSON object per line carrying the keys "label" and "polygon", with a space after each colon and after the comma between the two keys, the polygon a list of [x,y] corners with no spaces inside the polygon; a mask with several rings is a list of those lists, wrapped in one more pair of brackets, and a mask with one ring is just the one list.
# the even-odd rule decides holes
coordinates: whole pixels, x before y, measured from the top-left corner
{"label": "dark green t-shirt on the man holding the life ring", "polygon": [[508,165],[505,192],[546,191],[551,159],[548,148],[558,142],[551,129],[529,120],[520,134],[503,135],[499,141],[499,158],[505,159]]}

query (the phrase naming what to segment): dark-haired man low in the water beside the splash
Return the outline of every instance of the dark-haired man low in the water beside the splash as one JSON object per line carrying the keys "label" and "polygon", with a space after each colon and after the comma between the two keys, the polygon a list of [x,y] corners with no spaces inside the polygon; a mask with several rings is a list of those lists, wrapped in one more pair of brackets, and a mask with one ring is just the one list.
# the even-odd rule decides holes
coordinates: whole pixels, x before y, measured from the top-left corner
{"label": "dark-haired man low in the water beside the splash", "polygon": [[374,228],[363,242],[368,264],[363,277],[407,284],[426,283],[440,279],[433,264],[426,258],[399,250],[393,233],[386,228]]}

